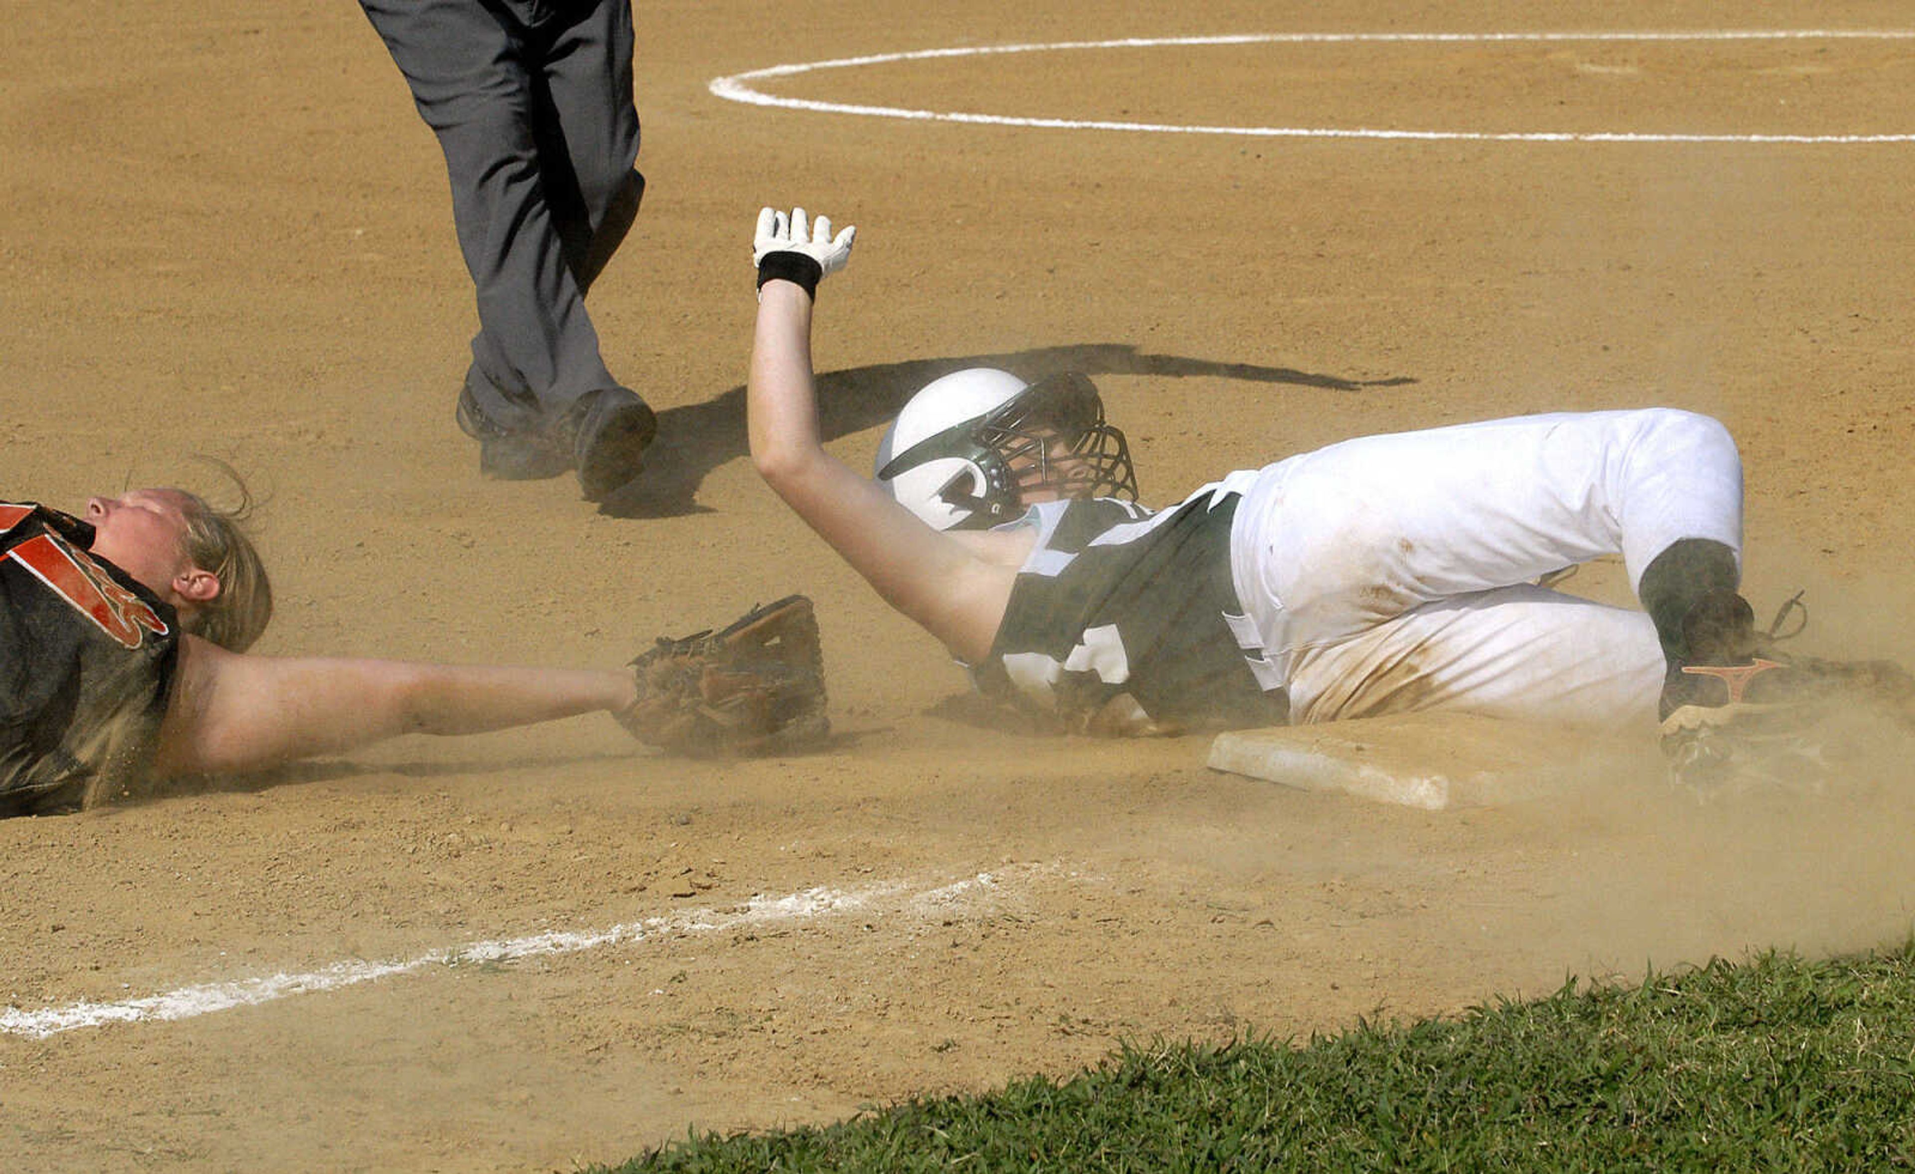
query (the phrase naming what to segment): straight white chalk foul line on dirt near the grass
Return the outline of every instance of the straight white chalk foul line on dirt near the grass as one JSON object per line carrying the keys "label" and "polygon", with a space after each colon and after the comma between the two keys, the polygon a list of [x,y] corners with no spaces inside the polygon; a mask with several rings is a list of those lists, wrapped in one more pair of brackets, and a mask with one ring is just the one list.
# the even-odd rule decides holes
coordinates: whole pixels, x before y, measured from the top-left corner
{"label": "straight white chalk foul line on dirt near the grass", "polygon": [[[958,898],[980,889],[996,889],[1003,873],[977,873],[956,883],[938,885],[908,896],[904,910],[944,908]],[[295,994],[320,994],[360,982],[375,982],[396,975],[408,975],[429,967],[454,967],[473,963],[504,963],[525,958],[550,958],[557,954],[580,954],[605,946],[628,946],[659,937],[687,937],[724,933],[732,929],[756,929],[795,921],[812,921],[867,908],[873,902],[908,889],[904,881],[883,881],[852,891],[806,889],[785,896],[755,896],[741,908],[730,912],[687,910],[665,917],[647,917],[599,931],[552,931],[517,938],[490,942],[467,942],[446,950],[431,950],[417,958],[389,961],[335,961],[316,971],[301,975],[268,975],[262,979],[239,979],[232,982],[203,982],[182,986],[163,994],[147,994],[119,1002],[75,1002],[38,1011],[6,1007],[0,1011],[0,1032],[44,1040],[59,1032],[107,1023],[151,1023],[193,1019],[234,1007],[253,1007]]]}

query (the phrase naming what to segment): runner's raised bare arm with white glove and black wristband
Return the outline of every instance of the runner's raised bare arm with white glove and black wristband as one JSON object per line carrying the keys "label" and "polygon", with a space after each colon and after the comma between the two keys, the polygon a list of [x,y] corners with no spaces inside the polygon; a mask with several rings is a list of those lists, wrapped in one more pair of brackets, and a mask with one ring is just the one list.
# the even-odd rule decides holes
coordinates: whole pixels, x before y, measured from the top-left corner
{"label": "runner's raised bare arm with white glove and black wristband", "polygon": [[787,506],[877,588],[887,603],[979,663],[1003,621],[1017,575],[1011,534],[946,534],[927,527],[873,481],[825,452],[812,377],[812,299],[818,282],[845,266],[856,230],[831,236],[831,220],[806,226],[758,213],[758,324],[751,347],[747,423],[751,460]]}

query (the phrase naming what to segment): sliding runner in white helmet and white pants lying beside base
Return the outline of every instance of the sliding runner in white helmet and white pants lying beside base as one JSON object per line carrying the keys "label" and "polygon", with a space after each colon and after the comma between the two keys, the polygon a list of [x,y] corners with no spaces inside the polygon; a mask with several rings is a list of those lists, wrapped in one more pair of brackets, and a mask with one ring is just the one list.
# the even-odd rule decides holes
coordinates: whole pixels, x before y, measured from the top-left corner
{"label": "sliding runner in white helmet and white pants lying beside base", "polygon": [[[1737,594],[1735,442],[1691,412],[1362,437],[1153,511],[1088,379],[969,370],[919,391],[860,477],[820,444],[810,360],[816,285],[854,239],[804,209],[758,214],[751,454],[988,695],[1101,734],[1660,718],[1672,762],[1706,776],[1794,737],[1810,701],[1915,693],[1894,665],[1787,657],[1758,634]],[[1605,553],[1645,611],[1538,586]]]}

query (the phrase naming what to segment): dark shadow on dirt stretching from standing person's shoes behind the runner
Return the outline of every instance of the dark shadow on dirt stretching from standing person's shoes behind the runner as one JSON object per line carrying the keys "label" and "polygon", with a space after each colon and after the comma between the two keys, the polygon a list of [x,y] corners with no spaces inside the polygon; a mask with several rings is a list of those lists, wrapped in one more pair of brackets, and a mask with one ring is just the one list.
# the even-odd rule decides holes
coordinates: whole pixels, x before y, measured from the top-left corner
{"label": "dark shadow on dirt stretching from standing person's shoes behind the runner", "polygon": [[[1249,383],[1285,383],[1325,391],[1362,391],[1415,383],[1408,375],[1390,379],[1344,379],[1291,368],[1247,362],[1214,362],[1176,354],[1139,354],[1126,343],[1082,343],[1040,347],[1007,354],[963,354],[873,364],[818,375],[818,423],[825,440],[887,423],[925,383],[963,368],[1003,368],[1038,381],[1059,372],[1086,375],[1208,375]],[[645,471],[611,494],[599,513],[613,517],[678,517],[703,513],[697,492],[707,473],[747,456],[745,389],[733,387],[703,404],[659,412],[659,440],[645,452]]]}

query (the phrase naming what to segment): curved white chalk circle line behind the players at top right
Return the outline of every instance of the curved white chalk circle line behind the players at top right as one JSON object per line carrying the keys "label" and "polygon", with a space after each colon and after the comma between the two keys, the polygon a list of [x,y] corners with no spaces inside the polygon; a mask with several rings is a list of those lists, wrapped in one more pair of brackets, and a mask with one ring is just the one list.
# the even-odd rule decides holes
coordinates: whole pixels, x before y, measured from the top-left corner
{"label": "curved white chalk circle line behind the players at top right", "polygon": [[856,69],[860,65],[889,65],[892,61],[927,61],[935,57],[984,57],[998,54],[1044,54],[1070,50],[1126,50],[1164,46],[1233,46],[1233,44],[1471,44],[1471,42],[1737,42],[1737,40],[1915,40],[1915,29],[1699,29],[1647,33],[1241,33],[1226,36],[1128,36],[1118,40],[1055,40],[1048,44],[990,44],[940,50],[910,50],[900,54],[869,54],[864,57],[835,57],[770,65],[747,73],[718,77],[709,90],[726,102],[802,109],[831,115],[869,119],[906,119],[925,123],[967,123],[982,126],[1032,126],[1040,130],[1124,130],[1139,134],[1233,134],[1249,138],[1367,138],[1421,142],[1614,142],[1614,144],[1902,144],[1915,142],[1907,134],[1687,134],[1687,132],[1628,132],[1628,130],[1383,130],[1371,126],[1191,126],[1176,123],[1126,123],[1109,119],[1044,119],[1019,115],[980,115],[971,111],[931,111],[896,105],[860,105],[848,102],[816,102],[808,98],[779,98],[751,82],[825,69]]}

